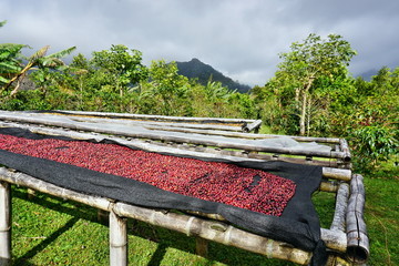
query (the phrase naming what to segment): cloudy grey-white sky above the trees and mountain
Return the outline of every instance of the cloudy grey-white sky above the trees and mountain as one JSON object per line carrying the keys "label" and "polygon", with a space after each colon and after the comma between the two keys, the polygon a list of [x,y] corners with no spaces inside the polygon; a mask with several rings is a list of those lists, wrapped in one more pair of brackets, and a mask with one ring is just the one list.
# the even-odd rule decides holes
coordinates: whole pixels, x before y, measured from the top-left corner
{"label": "cloudy grey-white sky above the trees and mountain", "polygon": [[399,66],[399,0],[1,0],[2,20],[0,43],[88,57],[125,44],[145,64],[197,58],[249,85],[264,85],[278,53],[309,33],[349,41],[354,75]]}

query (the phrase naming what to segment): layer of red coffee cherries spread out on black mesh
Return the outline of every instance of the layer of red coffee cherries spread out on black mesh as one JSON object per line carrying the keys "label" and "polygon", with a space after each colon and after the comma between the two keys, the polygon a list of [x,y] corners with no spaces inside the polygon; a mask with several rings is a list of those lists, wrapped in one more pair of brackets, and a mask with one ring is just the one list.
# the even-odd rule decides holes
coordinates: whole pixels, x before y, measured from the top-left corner
{"label": "layer of red coffee cherries spread out on black mesh", "polygon": [[293,181],[260,170],[117,144],[0,134],[0,150],[120,175],[164,191],[274,216],[282,215],[296,187]]}

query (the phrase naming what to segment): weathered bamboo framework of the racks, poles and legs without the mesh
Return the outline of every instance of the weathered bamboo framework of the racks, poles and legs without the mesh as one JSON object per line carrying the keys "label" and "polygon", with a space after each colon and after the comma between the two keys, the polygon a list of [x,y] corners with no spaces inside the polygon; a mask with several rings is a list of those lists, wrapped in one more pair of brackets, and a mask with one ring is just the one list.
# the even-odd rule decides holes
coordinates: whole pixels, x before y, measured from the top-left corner
{"label": "weathered bamboo framework of the racks, poles and legs without the mesh", "polygon": [[[63,122],[45,122],[45,120],[40,119],[40,115],[24,116],[20,114],[24,113],[0,111],[0,127],[21,127],[33,133],[63,135],[76,140],[108,139],[123,145],[150,152],[167,152],[176,155],[201,154],[201,156],[225,158],[228,161],[242,161],[243,158],[254,161],[277,160],[320,165],[323,166],[323,182],[319,190],[336,193],[336,207],[331,226],[330,228],[321,228],[321,239],[325,241],[330,254],[328,265],[350,265],[351,263],[365,263],[368,259],[369,243],[366,224],[362,218],[365,204],[362,176],[351,173],[349,147],[342,139],[290,136],[298,142],[328,144],[331,146],[331,152],[329,153],[275,147],[259,149],[253,145],[205,142],[190,137],[191,134],[222,135],[252,140],[277,137],[277,135],[244,133],[245,131],[258,129],[260,125],[258,121],[72,111],[59,114],[61,116],[74,116],[75,120],[84,122],[111,120],[110,122],[140,123],[142,126],[153,131],[147,134],[137,135],[134,133],[121,133],[117,130],[102,129],[93,131],[90,126],[78,126],[76,124]],[[234,123],[241,123],[241,125],[232,125]],[[205,127],[198,126],[204,124],[206,124]],[[248,125],[249,129],[244,129]],[[168,137],[167,134],[158,134],[161,131],[166,133],[184,132],[187,136]],[[126,218],[143,221],[152,225],[185,233],[190,236],[196,236],[197,253],[200,255],[206,255],[207,241],[212,241],[262,254],[268,258],[285,259],[299,265],[307,265],[313,256],[311,253],[294,248],[286,243],[236,228],[216,214],[163,213],[157,209],[114,202],[112,198],[85,195],[61,188],[40,181],[34,176],[0,167],[0,265],[8,265],[11,262],[10,184],[25,186],[53,196],[84,203],[96,207],[99,212],[109,213],[111,265],[127,265]]]}

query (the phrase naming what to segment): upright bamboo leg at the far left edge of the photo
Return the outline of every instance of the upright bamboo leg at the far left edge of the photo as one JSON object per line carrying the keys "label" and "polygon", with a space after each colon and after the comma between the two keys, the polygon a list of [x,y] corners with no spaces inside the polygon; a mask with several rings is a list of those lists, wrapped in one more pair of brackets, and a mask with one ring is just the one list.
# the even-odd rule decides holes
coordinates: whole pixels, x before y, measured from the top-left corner
{"label": "upright bamboo leg at the far left edge of the photo", "polygon": [[11,265],[11,188],[0,181],[0,265]]}

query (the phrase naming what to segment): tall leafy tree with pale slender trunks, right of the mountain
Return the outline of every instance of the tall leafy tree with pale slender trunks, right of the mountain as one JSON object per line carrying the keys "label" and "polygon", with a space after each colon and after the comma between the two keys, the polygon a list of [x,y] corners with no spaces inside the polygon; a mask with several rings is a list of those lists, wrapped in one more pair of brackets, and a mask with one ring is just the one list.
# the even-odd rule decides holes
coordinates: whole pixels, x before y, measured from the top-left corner
{"label": "tall leafy tree with pale slender trunks, right of the mountain", "polygon": [[294,102],[299,112],[299,133],[305,135],[315,81],[345,76],[347,65],[356,52],[349,42],[336,34],[323,40],[313,33],[303,43],[294,42],[290,49],[290,52],[279,54],[283,62],[278,65],[276,79],[284,80],[285,88],[294,88]]}

